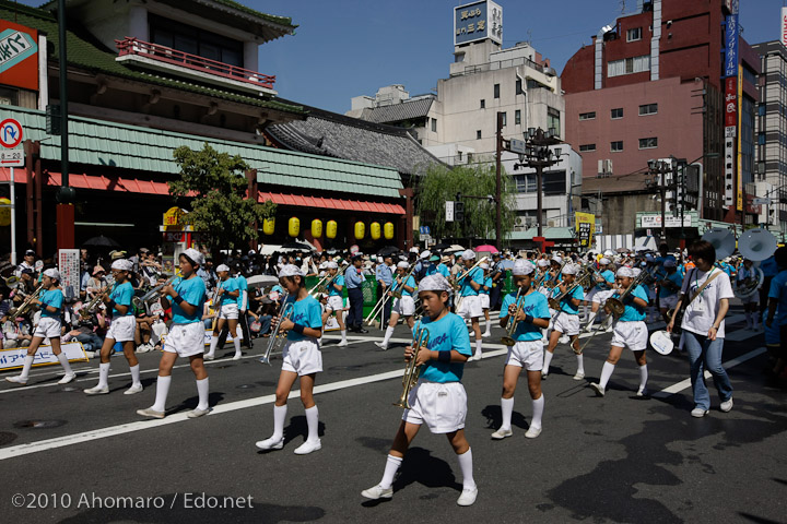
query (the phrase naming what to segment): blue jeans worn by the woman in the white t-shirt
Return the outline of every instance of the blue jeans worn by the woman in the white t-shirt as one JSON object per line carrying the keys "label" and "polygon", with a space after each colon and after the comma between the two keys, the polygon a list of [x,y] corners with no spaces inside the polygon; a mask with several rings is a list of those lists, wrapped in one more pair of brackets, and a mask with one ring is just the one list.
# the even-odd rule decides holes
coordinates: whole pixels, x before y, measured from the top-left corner
{"label": "blue jeans worn by the woman in the white t-shirt", "polygon": [[705,368],[713,376],[721,402],[729,401],[732,396],[732,384],[730,384],[727,371],[721,366],[724,338],[717,337],[715,341],[710,341],[706,335],[697,335],[688,330],[683,330],[683,336],[691,361],[690,372],[695,406],[701,409],[710,408],[710,395],[705,386]]}

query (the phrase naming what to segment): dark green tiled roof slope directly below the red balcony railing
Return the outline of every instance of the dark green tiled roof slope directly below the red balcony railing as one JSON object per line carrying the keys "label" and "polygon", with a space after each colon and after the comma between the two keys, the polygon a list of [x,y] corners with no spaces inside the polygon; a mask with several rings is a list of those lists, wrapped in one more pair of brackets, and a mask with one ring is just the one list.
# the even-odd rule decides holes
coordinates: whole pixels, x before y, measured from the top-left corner
{"label": "dark green tiled roof slope directly below the red balcony railing", "polygon": [[[57,19],[43,9],[28,8],[8,0],[0,0],[0,19],[14,21],[17,24],[38,29],[49,35],[48,44],[52,46],[49,60],[57,62],[59,57],[58,25]],[[115,61],[117,55],[94,43],[87,35],[79,34],[75,28],[69,28],[66,34],[68,62],[73,67],[94,72],[104,73],[148,84],[171,87],[179,91],[197,93],[201,95],[222,98],[239,104],[248,104],[258,107],[266,107],[294,115],[303,115],[303,108],[284,104],[275,99],[266,99],[259,96],[248,96],[215,87],[209,87],[190,82],[175,80],[158,74],[151,74],[129,69],[122,63]]]}

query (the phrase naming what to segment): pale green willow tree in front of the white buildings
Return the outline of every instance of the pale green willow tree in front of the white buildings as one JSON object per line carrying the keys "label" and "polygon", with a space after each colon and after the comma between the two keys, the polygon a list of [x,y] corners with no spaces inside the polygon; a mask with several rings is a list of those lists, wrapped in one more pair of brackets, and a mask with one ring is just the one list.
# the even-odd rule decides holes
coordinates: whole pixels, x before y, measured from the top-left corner
{"label": "pale green willow tree in front of the white buildings", "polygon": [[[432,228],[438,238],[489,238],[495,235],[496,206],[486,199],[462,199],[465,221],[445,222],[445,203],[456,200],[457,193],[468,196],[495,194],[495,166],[473,164],[469,166],[432,165],[415,186],[416,209],[421,224]],[[514,230],[516,219],[516,192],[514,179],[502,174],[502,227],[503,238]],[[502,243],[497,241],[496,243]],[[500,247],[500,246],[498,246]]]}

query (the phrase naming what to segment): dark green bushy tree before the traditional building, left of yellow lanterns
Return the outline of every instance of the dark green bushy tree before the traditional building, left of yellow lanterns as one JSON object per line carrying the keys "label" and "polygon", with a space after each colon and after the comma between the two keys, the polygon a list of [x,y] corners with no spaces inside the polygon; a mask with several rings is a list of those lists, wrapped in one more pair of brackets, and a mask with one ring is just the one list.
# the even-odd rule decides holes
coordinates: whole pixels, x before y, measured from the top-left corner
{"label": "dark green bushy tree before the traditional building, left of yellow lanterns", "polygon": [[240,156],[219,153],[208,143],[201,151],[175,150],[180,179],[168,182],[169,194],[190,202],[189,222],[207,234],[211,250],[239,248],[259,236],[255,224],[275,215],[277,204],[260,204],[247,195],[248,164]]}

